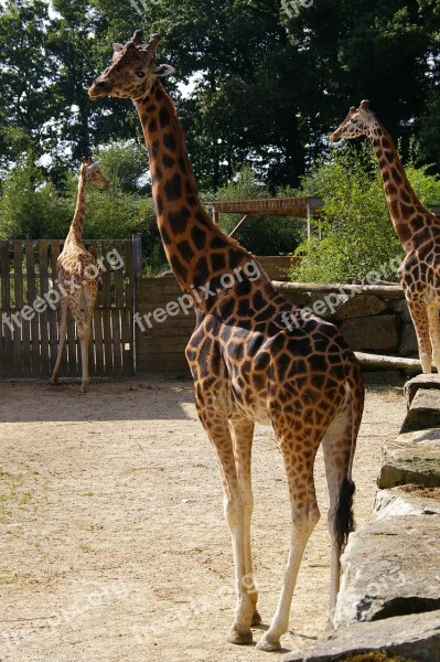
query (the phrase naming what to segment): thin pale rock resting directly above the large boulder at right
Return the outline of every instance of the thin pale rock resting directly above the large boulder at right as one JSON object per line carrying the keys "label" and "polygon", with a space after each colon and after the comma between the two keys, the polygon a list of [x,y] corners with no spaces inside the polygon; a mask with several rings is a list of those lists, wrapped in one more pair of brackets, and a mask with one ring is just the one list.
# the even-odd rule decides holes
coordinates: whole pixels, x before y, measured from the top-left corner
{"label": "thin pale rock resting directly above the large boulder at right", "polygon": [[405,515],[440,515],[440,489],[406,485],[376,492],[376,520]]}

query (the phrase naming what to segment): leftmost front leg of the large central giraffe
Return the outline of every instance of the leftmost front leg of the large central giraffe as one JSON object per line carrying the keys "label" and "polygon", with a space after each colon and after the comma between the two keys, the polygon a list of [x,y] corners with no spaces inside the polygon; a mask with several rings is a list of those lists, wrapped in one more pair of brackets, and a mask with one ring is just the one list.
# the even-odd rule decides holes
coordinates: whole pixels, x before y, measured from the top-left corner
{"label": "leftmost front leg of the large central giraffe", "polygon": [[[222,410],[223,407],[219,409],[218,406],[210,406],[214,398],[207,396],[203,401],[204,404],[196,397],[197,412],[216,451],[224,490],[224,514],[230,528],[233,545],[237,602],[228,641],[248,644],[253,642],[250,623],[255,613],[255,587],[250,586],[251,590],[249,590],[245,553],[247,547],[245,508],[234,459],[228,416],[225,410]],[[218,402],[218,398],[216,401]]]}

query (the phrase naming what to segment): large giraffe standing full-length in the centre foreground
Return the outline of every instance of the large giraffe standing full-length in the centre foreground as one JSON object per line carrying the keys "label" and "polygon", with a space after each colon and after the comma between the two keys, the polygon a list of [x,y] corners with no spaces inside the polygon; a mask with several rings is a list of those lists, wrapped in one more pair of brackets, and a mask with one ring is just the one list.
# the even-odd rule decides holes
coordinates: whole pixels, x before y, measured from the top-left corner
{"label": "large giraffe standing full-length in the centre foreground", "polygon": [[260,622],[250,551],[255,423],[272,426],[283,457],[291,549],[276,615],[257,644],[272,651],[288,628],[301,557],[319,519],[313,463],[320,442],[330,491],[332,620],[341,548],[353,526],[351,477],[363,410],[362,377],[337,329],[301,313],[279,295],[254,257],[203,209],[174,105],[159,82],[174,70],[154,63],[159,35],[146,45],[141,41],[137,31],[125,46],[115,44],[112,65],[89,94],[135,102],[163,246],[182,289],[193,298],[196,327],[186,357],[197,414],[217,455],[232,533],[237,590],[228,637],[233,643],[250,643],[250,627]]}

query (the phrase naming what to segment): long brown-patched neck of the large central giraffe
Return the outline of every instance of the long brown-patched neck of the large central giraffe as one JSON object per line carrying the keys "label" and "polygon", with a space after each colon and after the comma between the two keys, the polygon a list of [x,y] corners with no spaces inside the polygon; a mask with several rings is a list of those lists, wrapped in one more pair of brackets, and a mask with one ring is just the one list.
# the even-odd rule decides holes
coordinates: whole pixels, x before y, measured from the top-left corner
{"label": "long brown-patched neck of the large central giraffe", "polygon": [[193,296],[196,308],[205,309],[194,298],[194,288],[233,273],[253,256],[226,237],[204,210],[174,104],[162,85],[155,82],[150,93],[135,103],[149,151],[152,195],[167,258],[183,291]]}

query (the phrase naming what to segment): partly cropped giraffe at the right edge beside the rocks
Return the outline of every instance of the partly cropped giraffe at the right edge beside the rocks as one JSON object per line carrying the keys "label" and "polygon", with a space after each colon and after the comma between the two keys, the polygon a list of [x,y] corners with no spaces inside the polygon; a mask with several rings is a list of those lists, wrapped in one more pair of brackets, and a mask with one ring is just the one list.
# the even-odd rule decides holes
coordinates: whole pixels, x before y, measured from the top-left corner
{"label": "partly cropped giraffe at the right edge beside the rocks", "polygon": [[417,333],[423,373],[440,372],[440,218],[414,192],[388,131],[369,110],[352,107],[332,142],[367,136],[376,153],[393,225],[406,252],[399,268],[408,309]]}

